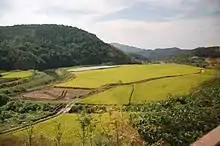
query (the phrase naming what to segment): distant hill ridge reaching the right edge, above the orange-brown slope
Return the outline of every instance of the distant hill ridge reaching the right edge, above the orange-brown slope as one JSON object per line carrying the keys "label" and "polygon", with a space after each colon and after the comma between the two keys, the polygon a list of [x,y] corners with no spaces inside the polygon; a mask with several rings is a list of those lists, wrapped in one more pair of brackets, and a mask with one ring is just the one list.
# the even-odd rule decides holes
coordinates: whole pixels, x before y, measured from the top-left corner
{"label": "distant hill ridge reaching the right edge, above the orange-brown slope", "polygon": [[111,43],[111,45],[119,48],[126,53],[135,53],[148,58],[152,61],[164,61],[179,56],[198,56],[202,58],[220,58],[220,46],[198,47],[192,50],[184,50],[177,47],[172,48],[156,48],[142,49],[134,46],[123,45],[119,43]]}

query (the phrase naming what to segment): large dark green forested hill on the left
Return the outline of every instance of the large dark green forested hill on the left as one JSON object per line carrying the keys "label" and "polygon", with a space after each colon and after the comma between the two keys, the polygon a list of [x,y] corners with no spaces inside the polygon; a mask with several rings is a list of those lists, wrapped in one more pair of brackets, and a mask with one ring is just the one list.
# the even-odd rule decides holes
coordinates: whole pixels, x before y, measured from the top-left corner
{"label": "large dark green forested hill on the left", "polygon": [[63,25],[0,27],[0,56],[0,69],[7,70],[131,62],[94,34]]}

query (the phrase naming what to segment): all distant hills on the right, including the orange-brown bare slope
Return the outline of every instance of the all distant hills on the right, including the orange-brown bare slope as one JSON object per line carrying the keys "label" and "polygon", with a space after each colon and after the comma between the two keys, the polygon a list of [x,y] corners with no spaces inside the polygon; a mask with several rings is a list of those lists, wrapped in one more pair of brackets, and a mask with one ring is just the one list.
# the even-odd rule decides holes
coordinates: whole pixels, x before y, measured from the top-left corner
{"label": "all distant hills on the right, including the orange-brown bare slope", "polygon": [[124,52],[148,58],[150,61],[166,61],[170,63],[207,67],[210,66],[210,64],[219,64],[220,59],[219,46],[198,47],[192,50],[181,50],[179,48],[146,50],[118,43],[112,43],[111,45]]}

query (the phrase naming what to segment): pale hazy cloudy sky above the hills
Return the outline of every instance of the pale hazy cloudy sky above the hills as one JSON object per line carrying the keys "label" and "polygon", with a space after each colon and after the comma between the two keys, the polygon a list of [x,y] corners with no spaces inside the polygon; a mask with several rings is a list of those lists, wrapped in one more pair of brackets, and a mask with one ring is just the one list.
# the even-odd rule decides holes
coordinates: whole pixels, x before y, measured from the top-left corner
{"label": "pale hazy cloudy sky above the hills", "polygon": [[220,45],[220,0],[0,0],[0,25],[64,24],[142,48]]}

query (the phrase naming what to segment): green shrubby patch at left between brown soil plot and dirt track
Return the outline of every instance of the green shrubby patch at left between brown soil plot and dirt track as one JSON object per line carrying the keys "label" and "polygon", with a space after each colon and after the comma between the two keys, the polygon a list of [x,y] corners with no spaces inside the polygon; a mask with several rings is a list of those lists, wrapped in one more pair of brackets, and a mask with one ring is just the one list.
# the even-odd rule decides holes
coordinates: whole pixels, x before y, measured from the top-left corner
{"label": "green shrubby patch at left between brown soil plot and dirt track", "polygon": [[30,122],[56,114],[59,110],[57,108],[58,105],[60,104],[33,103],[17,100],[8,101],[5,105],[0,106],[0,133],[3,130],[27,125]]}

